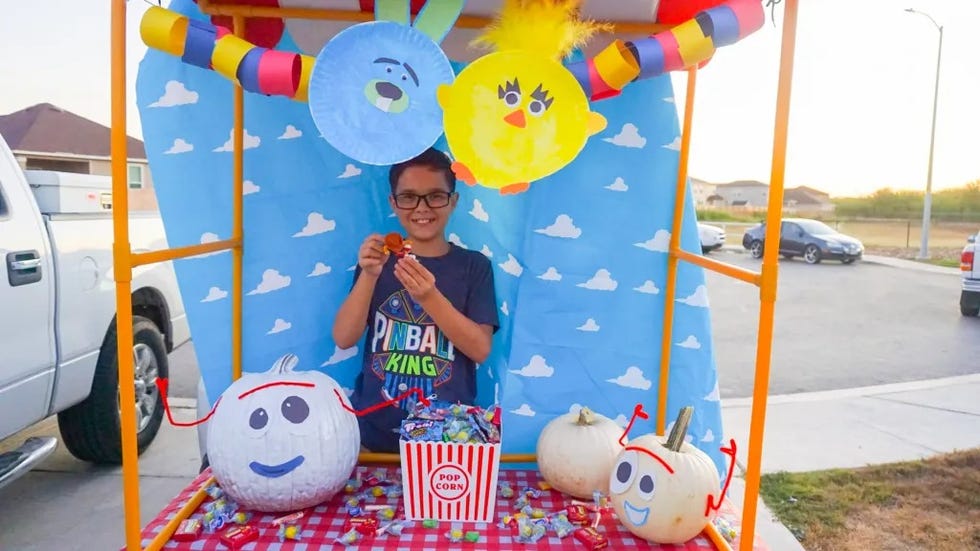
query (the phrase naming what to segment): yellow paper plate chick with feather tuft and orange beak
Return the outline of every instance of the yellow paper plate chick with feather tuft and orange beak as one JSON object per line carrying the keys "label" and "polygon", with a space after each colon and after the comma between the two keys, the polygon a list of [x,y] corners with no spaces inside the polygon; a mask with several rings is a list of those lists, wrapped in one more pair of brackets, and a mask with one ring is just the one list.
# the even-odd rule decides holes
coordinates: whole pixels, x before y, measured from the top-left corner
{"label": "yellow paper plate chick with feather tuft and orange beak", "polygon": [[439,90],[456,176],[520,193],[579,154],[606,119],[589,109],[578,81],[559,61],[598,25],[577,19],[577,0],[508,0],[478,42],[495,52]]}

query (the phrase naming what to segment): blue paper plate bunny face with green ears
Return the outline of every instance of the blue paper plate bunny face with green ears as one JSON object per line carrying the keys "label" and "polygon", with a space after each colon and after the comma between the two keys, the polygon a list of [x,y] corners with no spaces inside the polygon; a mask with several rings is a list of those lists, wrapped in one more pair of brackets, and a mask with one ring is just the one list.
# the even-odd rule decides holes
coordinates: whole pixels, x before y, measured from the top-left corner
{"label": "blue paper plate bunny face with green ears", "polygon": [[455,75],[438,43],[459,16],[462,2],[457,3],[459,10],[450,9],[448,16],[446,10],[423,9],[408,25],[405,0],[403,20],[360,23],[323,46],[310,77],[309,103],[330,145],[356,161],[391,165],[439,139],[436,89]]}

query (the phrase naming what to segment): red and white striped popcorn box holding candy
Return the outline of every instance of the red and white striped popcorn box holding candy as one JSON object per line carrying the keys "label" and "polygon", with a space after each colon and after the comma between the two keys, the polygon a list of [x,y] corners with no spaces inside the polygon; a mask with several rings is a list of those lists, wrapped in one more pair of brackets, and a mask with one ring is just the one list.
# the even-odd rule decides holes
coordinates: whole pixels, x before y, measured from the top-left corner
{"label": "red and white striped popcorn box holding candy", "polygon": [[494,522],[500,443],[402,440],[405,518]]}

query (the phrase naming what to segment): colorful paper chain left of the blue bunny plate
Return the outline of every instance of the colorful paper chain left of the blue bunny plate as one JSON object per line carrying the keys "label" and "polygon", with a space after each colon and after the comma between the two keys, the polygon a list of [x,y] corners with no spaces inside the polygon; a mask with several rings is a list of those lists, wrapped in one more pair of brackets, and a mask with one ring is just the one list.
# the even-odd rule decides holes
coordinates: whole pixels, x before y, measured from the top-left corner
{"label": "colorful paper chain left of the blue bunny plate", "polygon": [[307,101],[315,58],[256,46],[228,29],[152,6],[140,37],[155,50],[213,70],[249,92]]}

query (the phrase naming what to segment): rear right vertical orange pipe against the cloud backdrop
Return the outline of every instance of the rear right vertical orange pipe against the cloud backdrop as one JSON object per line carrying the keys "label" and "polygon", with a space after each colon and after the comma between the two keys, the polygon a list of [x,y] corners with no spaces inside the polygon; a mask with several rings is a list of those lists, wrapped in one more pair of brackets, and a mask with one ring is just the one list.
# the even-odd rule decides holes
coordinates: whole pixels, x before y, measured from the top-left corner
{"label": "rear right vertical orange pipe against the cloud backdrop", "polygon": [[681,157],[677,166],[677,191],[674,197],[674,219],[670,229],[670,253],[667,255],[667,285],[664,289],[664,330],[660,343],[660,383],[657,387],[657,434],[667,426],[667,385],[670,380],[670,346],[674,333],[674,297],[677,294],[677,255],[684,224],[684,197],[687,193],[687,162],[691,156],[691,123],[694,120],[694,90],[697,65],[687,70],[687,95],[684,100],[684,129],[681,132]]}

